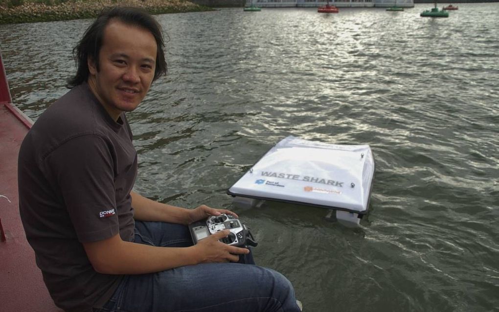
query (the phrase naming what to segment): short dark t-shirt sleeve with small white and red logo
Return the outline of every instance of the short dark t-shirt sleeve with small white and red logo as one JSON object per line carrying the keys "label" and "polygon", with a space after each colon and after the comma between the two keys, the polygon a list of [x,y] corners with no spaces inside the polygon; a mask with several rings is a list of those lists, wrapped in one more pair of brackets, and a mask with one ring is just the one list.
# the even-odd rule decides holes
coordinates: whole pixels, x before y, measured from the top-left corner
{"label": "short dark t-shirt sleeve with small white and red logo", "polygon": [[42,166],[58,186],[78,240],[119,233],[115,203],[114,153],[97,135],[72,138],[51,151]]}

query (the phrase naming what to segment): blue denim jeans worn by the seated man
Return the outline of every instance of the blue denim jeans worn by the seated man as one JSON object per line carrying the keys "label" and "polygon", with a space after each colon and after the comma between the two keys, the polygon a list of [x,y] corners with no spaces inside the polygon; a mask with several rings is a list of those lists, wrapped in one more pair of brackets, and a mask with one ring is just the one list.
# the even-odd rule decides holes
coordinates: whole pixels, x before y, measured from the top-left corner
{"label": "blue denim jeans worn by the seated man", "polygon": [[[162,247],[192,246],[188,227],[164,222],[135,224],[135,242]],[[209,263],[126,275],[96,312],[299,312],[291,283],[280,273],[240,263]]]}

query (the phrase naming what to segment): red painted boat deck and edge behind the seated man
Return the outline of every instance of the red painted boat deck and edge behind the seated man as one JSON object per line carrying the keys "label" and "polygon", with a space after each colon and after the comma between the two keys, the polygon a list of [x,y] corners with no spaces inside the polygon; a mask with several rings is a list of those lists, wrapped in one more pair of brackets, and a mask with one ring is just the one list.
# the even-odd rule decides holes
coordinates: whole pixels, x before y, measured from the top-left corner
{"label": "red painted boat deck and edge behind the seated man", "polygon": [[43,283],[19,217],[17,155],[31,125],[12,105],[0,51],[0,311],[61,312]]}

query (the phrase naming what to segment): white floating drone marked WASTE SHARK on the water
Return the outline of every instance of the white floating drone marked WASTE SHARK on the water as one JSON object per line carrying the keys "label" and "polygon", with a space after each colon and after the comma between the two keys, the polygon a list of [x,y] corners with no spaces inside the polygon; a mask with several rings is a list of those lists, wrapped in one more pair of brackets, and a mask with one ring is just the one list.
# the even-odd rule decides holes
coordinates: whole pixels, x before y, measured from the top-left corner
{"label": "white floating drone marked WASTE SHARK on the water", "polygon": [[229,190],[236,206],[279,201],[336,212],[346,226],[367,214],[374,180],[369,145],[335,145],[284,138]]}

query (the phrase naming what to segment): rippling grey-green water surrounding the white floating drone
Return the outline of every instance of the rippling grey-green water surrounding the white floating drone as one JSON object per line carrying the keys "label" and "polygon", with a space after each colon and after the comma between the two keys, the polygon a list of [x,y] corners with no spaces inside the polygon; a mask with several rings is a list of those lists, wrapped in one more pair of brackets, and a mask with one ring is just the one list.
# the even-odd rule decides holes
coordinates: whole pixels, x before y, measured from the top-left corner
{"label": "rippling grey-green water surrounding the white floating drone", "polygon": [[[369,144],[358,229],[321,208],[234,208],[257,263],[307,312],[499,311],[499,3],[419,16],[430,7],[158,15],[169,72],[128,115],[136,190],[233,209],[226,190],[288,135]],[[13,101],[32,119],[66,92],[89,23],[0,26]]]}

